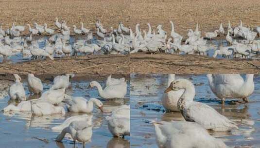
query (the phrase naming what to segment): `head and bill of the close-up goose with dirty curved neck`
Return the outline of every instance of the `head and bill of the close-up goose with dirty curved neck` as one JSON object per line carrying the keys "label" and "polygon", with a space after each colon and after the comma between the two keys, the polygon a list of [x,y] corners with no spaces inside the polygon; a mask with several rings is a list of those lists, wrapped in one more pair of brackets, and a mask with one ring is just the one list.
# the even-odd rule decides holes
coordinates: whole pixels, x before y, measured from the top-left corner
{"label": "head and bill of the close-up goose with dirty curved neck", "polygon": [[177,79],[177,80],[173,81],[164,92],[167,93],[170,91],[178,91],[181,89],[186,89],[187,86],[193,86],[191,81],[189,81],[187,79]]}

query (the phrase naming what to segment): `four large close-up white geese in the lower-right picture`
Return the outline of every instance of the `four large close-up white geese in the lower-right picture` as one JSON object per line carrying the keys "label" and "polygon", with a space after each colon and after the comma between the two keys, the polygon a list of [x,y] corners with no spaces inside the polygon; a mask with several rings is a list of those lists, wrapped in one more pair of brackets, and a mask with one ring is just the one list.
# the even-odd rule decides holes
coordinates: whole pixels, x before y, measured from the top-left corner
{"label": "four large close-up white geese in the lower-right picture", "polygon": [[[211,91],[222,100],[241,98],[248,102],[254,91],[254,74],[207,74]],[[186,121],[152,121],[159,148],[227,148],[224,142],[211,136],[207,130],[231,131],[237,124],[221,115],[212,107],[193,101],[195,88],[188,79],[168,76],[168,88],[162,97],[167,111],[180,111]]]}

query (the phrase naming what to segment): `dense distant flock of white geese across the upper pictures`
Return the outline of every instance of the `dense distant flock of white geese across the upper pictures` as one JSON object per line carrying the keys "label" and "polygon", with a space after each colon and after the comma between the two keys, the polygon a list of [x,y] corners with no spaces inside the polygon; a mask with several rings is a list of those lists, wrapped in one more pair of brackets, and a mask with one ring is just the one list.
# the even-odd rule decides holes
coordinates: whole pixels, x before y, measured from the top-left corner
{"label": "dense distant flock of white geese across the upper pictures", "polygon": [[[96,35],[93,39],[93,32],[90,29],[84,28],[83,22],[80,22],[81,27],[77,28],[73,25],[73,33],[76,35],[86,35],[86,39],[79,39],[74,41],[73,45],[67,44],[70,38],[70,27],[67,26],[66,21],[59,22],[55,19],[55,26],[59,30],[48,28],[47,24],[39,25],[36,22],[32,28],[29,27],[30,36],[21,37],[21,32],[25,31],[25,27],[21,25],[12,24],[12,28],[4,31],[2,24],[0,24],[0,55],[5,60],[8,56],[12,56],[17,52],[22,52],[23,55],[32,56],[33,58],[48,56],[53,59],[54,55],[78,55],[80,54],[93,54],[99,51],[110,54],[126,54],[137,52],[165,52],[170,54],[206,54],[209,49],[214,49],[213,57],[218,55],[230,57],[249,58],[250,56],[259,53],[260,40],[256,40],[257,34],[260,34],[260,27],[252,31],[250,26],[245,27],[240,20],[240,25],[231,27],[230,21],[225,30],[223,24],[220,24],[218,30],[214,32],[206,32],[205,37],[199,31],[199,25],[196,24],[196,29],[188,29],[187,39],[182,44],[183,37],[175,32],[173,21],[170,21],[172,31],[167,34],[163,30],[163,26],[159,24],[157,30],[152,30],[149,23],[148,32],[140,29],[137,24],[135,32],[129,27],[125,27],[122,22],[119,23],[117,29],[110,30],[104,28],[101,21],[98,19],[96,25]],[[56,32],[56,33],[55,33]],[[33,39],[34,35],[41,34],[51,35],[45,40],[45,46],[40,48],[37,40]],[[207,44],[208,39],[225,35],[226,42],[229,46],[220,45],[219,48]],[[169,37],[167,39],[167,37]],[[236,40],[234,38],[242,38]],[[98,39],[95,39],[98,38]],[[30,45],[27,43],[30,42]]]}

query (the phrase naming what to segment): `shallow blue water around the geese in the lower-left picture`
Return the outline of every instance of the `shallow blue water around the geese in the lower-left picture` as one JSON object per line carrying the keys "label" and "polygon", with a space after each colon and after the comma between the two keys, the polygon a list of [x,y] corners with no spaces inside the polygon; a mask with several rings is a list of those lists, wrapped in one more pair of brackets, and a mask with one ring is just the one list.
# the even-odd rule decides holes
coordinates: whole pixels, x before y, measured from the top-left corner
{"label": "shallow blue water around the geese in the lower-left picture", "polygon": [[[66,94],[72,96],[83,96],[85,98],[95,97],[101,99],[97,89],[87,89],[89,82],[92,80],[80,79],[72,80],[71,87],[66,90]],[[105,80],[97,80],[102,86]],[[27,96],[37,98],[37,96],[29,96],[27,83],[24,81],[24,88],[26,89]],[[44,82],[44,91],[48,90],[51,86],[50,81]],[[122,104],[129,105],[129,84],[128,92],[125,99],[117,99],[107,101],[101,99],[104,104],[105,111],[112,111]],[[0,100],[0,109],[7,106],[9,96],[5,95]],[[9,101],[10,103],[10,101]],[[66,118],[79,115],[82,113],[69,113],[65,116],[62,115],[48,115],[48,116],[35,116],[25,113],[3,113],[0,112],[0,148],[82,148],[81,143],[76,143],[74,146],[70,139],[66,138],[63,143],[55,142],[56,136],[59,134],[52,131],[52,127],[61,124]],[[125,139],[113,138],[112,134],[107,128],[105,117],[109,113],[102,113],[99,109],[95,108],[93,111],[93,128],[91,142],[87,143],[85,148],[114,148],[122,146],[121,148],[129,148],[130,137],[126,136]]]}

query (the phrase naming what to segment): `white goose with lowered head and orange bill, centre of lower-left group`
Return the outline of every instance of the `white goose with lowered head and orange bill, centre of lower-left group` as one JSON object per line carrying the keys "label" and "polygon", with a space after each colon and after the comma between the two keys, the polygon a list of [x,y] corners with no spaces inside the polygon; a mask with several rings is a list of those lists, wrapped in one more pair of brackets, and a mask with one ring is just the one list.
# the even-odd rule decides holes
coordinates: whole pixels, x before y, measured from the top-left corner
{"label": "white goose with lowered head and orange bill, centre of lower-left group", "polygon": [[73,97],[71,100],[66,101],[68,110],[71,112],[85,112],[91,113],[93,111],[93,105],[96,105],[101,111],[103,111],[103,103],[96,99],[90,98],[88,101],[84,97]]}

